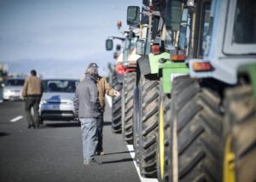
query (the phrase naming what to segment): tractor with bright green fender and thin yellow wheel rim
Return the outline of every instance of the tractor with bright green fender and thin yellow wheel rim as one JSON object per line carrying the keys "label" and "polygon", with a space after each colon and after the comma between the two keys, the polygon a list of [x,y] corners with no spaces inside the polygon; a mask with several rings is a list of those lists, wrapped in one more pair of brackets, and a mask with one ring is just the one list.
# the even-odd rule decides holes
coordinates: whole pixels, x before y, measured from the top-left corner
{"label": "tractor with bright green fender and thin yellow wheel rim", "polygon": [[168,120],[170,117],[168,112],[171,111],[169,105],[172,79],[189,73],[188,66],[184,63],[185,50],[175,45],[182,19],[182,3],[177,1],[170,6],[172,11],[175,10],[172,17],[175,16],[178,20],[172,21],[172,35],[169,35],[169,41],[166,41],[166,16],[163,14],[166,11],[165,2],[144,1],[141,21],[135,15],[139,14],[139,8],[128,7],[127,10],[127,22],[130,26],[137,26],[138,22],[141,22],[142,31],[147,27],[147,36],[140,37],[137,41],[137,54],[143,56],[137,60],[133,118],[134,149],[142,176],[158,177],[159,180],[164,180],[166,176],[164,166],[167,162],[167,144],[164,130],[168,127],[164,119]]}

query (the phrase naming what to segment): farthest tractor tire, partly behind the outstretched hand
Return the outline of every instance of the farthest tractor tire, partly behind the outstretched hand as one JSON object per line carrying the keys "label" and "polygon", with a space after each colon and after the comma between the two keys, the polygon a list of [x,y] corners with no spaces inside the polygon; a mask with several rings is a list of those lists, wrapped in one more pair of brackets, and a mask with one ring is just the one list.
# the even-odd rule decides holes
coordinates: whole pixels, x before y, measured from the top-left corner
{"label": "farthest tractor tire, partly behind the outstretched hand", "polygon": [[[115,73],[112,76],[112,87],[113,89],[122,92],[123,86],[118,82]],[[115,134],[120,134],[122,131],[121,96],[112,98],[112,131]]]}

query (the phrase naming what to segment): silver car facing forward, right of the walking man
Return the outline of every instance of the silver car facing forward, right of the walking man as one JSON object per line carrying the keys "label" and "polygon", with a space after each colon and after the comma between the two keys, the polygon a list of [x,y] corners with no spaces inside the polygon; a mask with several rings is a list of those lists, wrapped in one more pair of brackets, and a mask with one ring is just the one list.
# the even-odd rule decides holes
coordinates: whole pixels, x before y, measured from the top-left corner
{"label": "silver car facing forward, right of the walking man", "polygon": [[44,79],[44,93],[39,105],[41,122],[44,120],[74,120],[73,99],[79,80]]}

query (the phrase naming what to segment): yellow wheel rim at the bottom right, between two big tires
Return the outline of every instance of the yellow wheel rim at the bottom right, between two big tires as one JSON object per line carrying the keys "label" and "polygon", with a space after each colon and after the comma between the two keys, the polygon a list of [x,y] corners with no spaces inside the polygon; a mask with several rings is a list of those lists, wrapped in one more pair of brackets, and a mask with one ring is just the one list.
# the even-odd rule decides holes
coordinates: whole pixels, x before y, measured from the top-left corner
{"label": "yellow wheel rim at the bottom right, between two big tires", "polygon": [[224,150],[224,182],[236,182],[236,155],[232,151],[230,135],[226,138]]}

